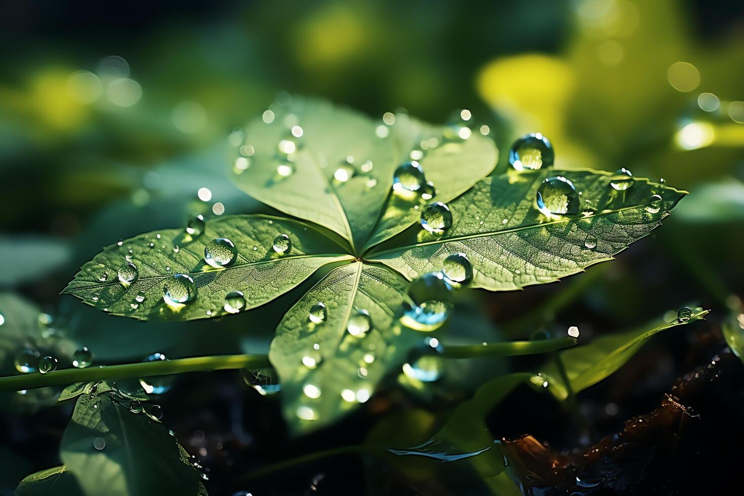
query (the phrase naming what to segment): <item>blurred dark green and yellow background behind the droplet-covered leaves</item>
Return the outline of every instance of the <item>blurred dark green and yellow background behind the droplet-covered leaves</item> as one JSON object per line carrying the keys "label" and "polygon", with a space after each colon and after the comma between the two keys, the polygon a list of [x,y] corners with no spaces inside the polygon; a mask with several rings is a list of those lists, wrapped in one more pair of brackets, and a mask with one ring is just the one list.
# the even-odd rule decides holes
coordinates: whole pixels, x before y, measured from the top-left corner
{"label": "blurred dark green and yellow background behind the droplet-covered leaves", "polygon": [[655,239],[586,280],[473,292],[492,327],[591,336],[685,303],[721,316],[740,304],[741,2],[4,2],[0,40],[0,286],[99,361],[267,349],[281,310],[143,324],[58,293],[117,239],[266,211],[228,180],[225,151],[287,92],[434,123],[471,109],[501,150],[496,173],[514,138],[539,131],[557,167],[626,167],[690,191]]}

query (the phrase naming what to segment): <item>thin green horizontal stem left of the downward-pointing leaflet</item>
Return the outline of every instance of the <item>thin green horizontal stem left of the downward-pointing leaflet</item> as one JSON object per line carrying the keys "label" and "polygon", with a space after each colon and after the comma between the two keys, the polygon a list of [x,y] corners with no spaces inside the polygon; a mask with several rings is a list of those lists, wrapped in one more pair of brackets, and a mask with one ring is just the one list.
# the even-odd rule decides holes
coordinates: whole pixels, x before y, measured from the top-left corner
{"label": "thin green horizontal stem left of the downward-pointing leaflet", "polygon": [[211,372],[245,368],[271,367],[266,355],[217,355],[146,361],[138,364],[109,365],[86,369],[65,369],[50,373],[28,373],[0,377],[0,391],[20,391],[35,387],[59,386],[75,382],[133,377],[167,376],[183,372]]}

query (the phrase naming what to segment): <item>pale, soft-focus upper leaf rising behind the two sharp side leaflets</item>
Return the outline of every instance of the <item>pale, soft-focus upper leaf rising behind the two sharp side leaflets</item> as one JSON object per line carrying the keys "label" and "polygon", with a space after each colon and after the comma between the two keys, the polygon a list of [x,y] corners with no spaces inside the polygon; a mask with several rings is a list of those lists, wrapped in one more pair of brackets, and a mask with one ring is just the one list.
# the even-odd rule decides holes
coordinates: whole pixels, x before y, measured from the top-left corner
{"label": "pale, soft-focus upper leaf rising behind the two sharp side leaflets", "polygon": [[[423,139],[438,137],[442,141],[441,128],[424,126],[407,115],[398,115],[388,128],[349,109],[300,97],[294,97],[289,107],[272,106],[271,110],[272,123],[257,119],[246,128],[246,143],[253,146],[254,153],[238,158],[242,167],[232,169],[231,178],[238,187],[284,213],[341,234],[356,253],[361,253],[373,231],[371,242],[376,243],[415,222],[414,213],[408,210],[413,203],[391,202],[382,224],[375,228],[394,170],[411,160],[411,149],[420,148]],[[295,123],[302,128],[300,138],[290,133]],[[385,138],[376,132],[378,126],[385,130]],[[298,146],[289,158],[279,152],[282,140]],[[353,158],[353,175],[339,181],[334,176],[339,167],[348,167],[347,158]],[[449,200],[493,169],[495,146],[473,135],[467,141],[434,149],[421,163],[427,178],[434,181],[437,195]],[[294,172],[280,175],[278,167],[288,164]],[[458,174],[453,175],[453,170]]]}

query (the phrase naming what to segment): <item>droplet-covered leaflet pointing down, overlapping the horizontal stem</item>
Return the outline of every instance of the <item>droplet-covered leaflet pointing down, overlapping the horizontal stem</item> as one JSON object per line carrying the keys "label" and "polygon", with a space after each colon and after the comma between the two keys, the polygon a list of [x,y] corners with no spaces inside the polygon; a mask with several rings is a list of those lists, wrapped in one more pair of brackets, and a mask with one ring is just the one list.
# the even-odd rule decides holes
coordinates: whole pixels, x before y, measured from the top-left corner
{"label": "droplet-covered leaflet pointing down, overlapping the horizontal stem", "polygon": [[[387,268],[356,262],[330,271],[289,309],[269,360],[280,376],[284,416],[295,431],[327,425],[367,401],[382,376],[423,342],[422,333],[397,324],[405,288],[405,280]],[[327,318],[313,323],[310,309],[318,302]],[[364,337],[347,330],[360,310],[372,322]]]}

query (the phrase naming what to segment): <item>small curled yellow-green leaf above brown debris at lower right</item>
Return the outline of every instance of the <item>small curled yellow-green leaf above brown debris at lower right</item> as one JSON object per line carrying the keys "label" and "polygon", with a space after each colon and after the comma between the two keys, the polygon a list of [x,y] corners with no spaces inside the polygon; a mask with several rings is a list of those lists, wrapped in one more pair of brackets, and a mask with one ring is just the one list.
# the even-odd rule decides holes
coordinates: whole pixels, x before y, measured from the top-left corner
{"label": "small curled yellow-green leaf above brown debris at lower right", "polygon": [[[647,326],[634,329],[629,332],[601,336],[584,346],[571,348],[559,352],[559,357],[565,367],[568,380],[571,381],[571,390],[578,393],[587,387],[610,376],[628,361],[635,352],[641,349],[646,342],[657,332],[683,326],[705,318],[710,312],[702,308],[693,309],[690,320],[679,322],[673,321],[663,323],[648,330]],[[558,399],[566,399],[568,390],[561,380],[561,374],[554,362],[542,369],[542,374],[548,377],[548,387]]]}

